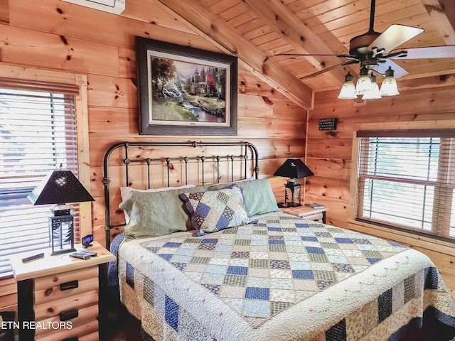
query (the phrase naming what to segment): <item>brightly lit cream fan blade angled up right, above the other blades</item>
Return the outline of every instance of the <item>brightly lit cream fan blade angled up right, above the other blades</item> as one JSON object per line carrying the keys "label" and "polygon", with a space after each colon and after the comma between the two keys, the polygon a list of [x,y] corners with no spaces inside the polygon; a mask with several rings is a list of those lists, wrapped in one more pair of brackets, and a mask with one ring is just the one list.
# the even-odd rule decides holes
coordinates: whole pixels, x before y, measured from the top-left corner
{"label": "brightly lit cream fan blade angled up right, above the other blades", "polygon": [[385,49],[385,53],[397,48],[402,43],[417,36],[424,31],[423,28],[398,25],[394,23],[385,30],[373,43],[368,46],[369,50],[373,48]]}

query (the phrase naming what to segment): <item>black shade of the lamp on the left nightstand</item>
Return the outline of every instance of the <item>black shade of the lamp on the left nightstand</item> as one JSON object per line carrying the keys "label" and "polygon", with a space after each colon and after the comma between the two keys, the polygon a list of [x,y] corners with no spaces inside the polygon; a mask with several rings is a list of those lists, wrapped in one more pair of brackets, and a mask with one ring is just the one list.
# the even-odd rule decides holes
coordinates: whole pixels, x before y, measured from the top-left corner
{"label": "black shade of the lamp on the left nightstand", "polygon": [[53,171],[28,195],[33,205],[95,201],[71,171]]}

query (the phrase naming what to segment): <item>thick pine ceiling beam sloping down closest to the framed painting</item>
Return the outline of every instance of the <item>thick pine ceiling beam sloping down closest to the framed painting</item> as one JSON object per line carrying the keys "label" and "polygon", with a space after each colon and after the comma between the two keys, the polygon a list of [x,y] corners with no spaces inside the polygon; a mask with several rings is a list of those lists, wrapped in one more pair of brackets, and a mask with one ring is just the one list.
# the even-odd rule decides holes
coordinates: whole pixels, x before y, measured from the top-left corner
{"label": "thick pine ceiling beam sloping down closest to the framed painting", "polygon": [[195,31],[225,52],[236,55],[264,82],[305,109],[314,106],[314,93],[298,78],[284,70],[276,61],[269,60],[261,50],[245,39],[223,18],[210,13],[197,1],[157,0],[163,9],[171,10]]}

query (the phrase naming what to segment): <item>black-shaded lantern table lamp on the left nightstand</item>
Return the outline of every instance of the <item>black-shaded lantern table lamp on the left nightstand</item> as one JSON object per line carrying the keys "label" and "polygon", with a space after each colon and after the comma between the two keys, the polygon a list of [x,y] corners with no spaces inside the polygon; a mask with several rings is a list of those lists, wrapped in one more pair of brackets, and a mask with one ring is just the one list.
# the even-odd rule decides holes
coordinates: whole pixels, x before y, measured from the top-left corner
{"label": "black-shaded lantern table lamp on the left nightstand", "polygon": [[94,201],[71,171],[49,173],[28,195],[33,205],[56,204],[49,217],[49,248],[52,255],[75,251],[74,220],[69,202]]}

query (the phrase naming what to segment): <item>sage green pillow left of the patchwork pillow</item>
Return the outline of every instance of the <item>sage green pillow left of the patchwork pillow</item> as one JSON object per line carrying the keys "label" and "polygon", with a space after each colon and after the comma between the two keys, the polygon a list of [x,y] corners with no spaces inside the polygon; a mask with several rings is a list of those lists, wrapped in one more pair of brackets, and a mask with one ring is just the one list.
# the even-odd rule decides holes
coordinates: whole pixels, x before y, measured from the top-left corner
{"label": "sage green pillow left of the patchwork pillow", "polygon": [[203,192],[203,186],[167,190],[165,192],[129,193],[119,207],[127,211],[129,222],[124,227],[125,240],[157,237],[193,229],[181,193]]}

